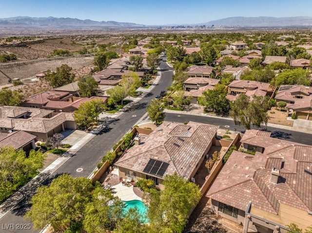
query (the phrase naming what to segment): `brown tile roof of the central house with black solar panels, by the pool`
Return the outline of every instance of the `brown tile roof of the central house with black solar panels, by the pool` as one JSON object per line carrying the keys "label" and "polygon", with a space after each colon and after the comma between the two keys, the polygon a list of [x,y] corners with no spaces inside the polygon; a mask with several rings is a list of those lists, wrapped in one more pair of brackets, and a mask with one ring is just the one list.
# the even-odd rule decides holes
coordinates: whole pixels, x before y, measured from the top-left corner
{"label": "brown tile roof of the central house with black solar panels, by the pool", "polygon": [[190,179],[207,145],[215,137],[218,126],[189,122],[187,125],[164,122],[140,145],[132,147],[115,164],[139,173],[150,159],[165,161],[169,166],[164,175],[176,172]]}

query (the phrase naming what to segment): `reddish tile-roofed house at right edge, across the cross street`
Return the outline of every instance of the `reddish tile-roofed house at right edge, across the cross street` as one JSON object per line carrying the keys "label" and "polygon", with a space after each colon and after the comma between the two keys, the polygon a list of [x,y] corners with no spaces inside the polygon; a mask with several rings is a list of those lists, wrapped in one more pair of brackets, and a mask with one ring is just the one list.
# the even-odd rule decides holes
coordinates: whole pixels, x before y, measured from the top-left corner
{"label": "reddish tile-roofed house at right edge, across the cross street", "polygon": [[287,103],[287,115],[295,112],[296,118],[312,121],[312,87],[281,85],[275,100]]}

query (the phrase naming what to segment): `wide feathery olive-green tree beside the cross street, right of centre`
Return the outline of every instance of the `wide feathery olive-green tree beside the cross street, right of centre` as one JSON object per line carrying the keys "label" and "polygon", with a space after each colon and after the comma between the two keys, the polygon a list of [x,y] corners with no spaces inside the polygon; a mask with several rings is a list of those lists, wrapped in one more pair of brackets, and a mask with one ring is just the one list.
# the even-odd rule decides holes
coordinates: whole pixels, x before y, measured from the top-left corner
{"label": "wide feathery olive-green tree beside the cross street, right of centre", "polygon": [[234,103],[231,103],[230,116],[235,125],[244,125],[250,129],[251,125],[260,127],[261,124],[267,124],[269,116],[267,109],[270,108],[268,96],[255,96],[250,101],[245,93],[239,94]]}

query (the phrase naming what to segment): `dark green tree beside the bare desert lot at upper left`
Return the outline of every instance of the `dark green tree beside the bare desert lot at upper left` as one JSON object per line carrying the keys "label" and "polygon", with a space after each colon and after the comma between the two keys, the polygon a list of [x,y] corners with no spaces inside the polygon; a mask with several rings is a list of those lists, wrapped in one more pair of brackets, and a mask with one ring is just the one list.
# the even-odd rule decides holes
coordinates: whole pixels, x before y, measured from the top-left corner
{"label": "dark green tree beside the bare desert lot at upper left", "polygon": [[58,88],[74,81],[75,74],[71,73],[72,70],[70,66],[63,64],[57,67],[57,72],[49,72],[44,78],[52,87]]}

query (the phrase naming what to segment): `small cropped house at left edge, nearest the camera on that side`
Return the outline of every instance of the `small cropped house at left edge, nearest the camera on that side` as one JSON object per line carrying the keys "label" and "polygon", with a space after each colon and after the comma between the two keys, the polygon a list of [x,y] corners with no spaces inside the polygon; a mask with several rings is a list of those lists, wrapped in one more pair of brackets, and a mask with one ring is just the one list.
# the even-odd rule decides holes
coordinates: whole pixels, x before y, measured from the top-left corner
{"label": "small cropped house at left edge, nearest the camera on that side", "polygon": [[23,149],[25,151],[35,149],[35,135],[27,133],[25,131],[9,130],[8,133],[0,133],[0,148],[5,146],[11,146],[14,149]]}

